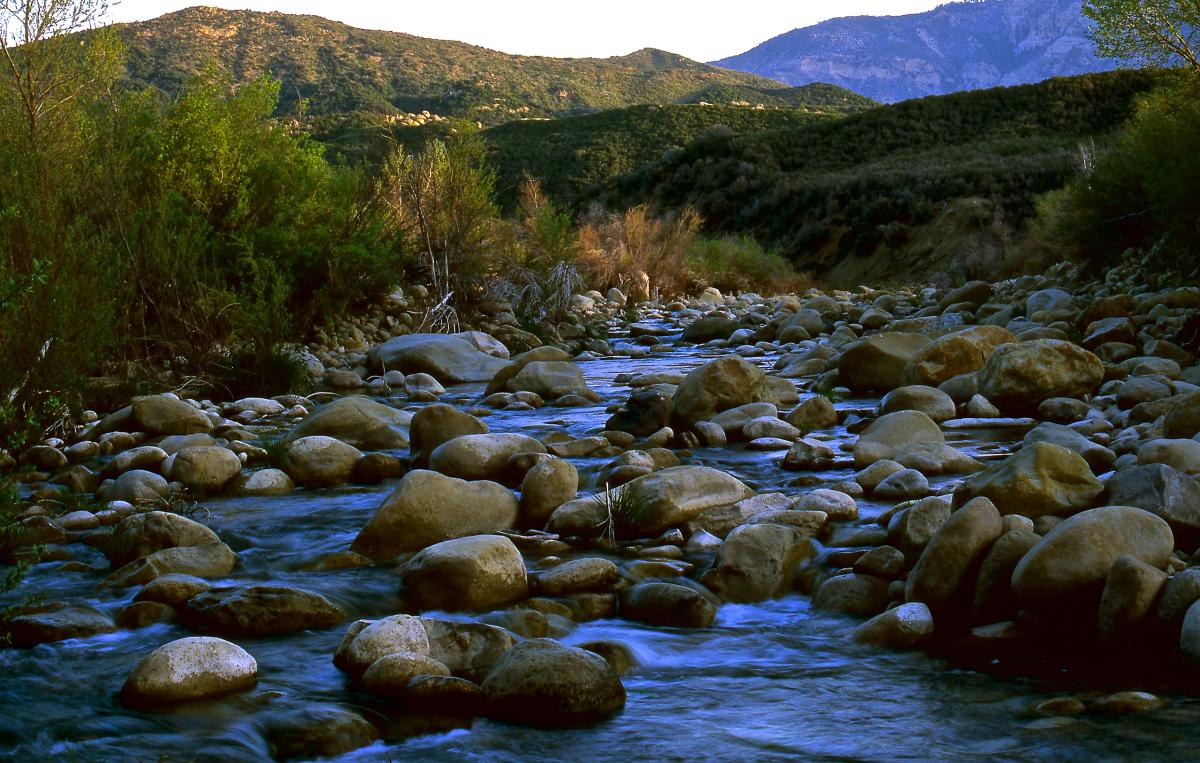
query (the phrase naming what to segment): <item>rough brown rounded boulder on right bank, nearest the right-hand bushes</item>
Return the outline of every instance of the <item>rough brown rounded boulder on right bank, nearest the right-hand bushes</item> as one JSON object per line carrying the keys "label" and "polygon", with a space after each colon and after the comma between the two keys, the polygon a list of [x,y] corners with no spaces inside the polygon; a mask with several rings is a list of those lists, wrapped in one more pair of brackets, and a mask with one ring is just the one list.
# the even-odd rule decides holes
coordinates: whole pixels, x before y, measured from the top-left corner
{"label": "rough brown rounded boulder on right bank, nearest the right-hand bushes", "polygon": [[1104,364],[1062,340],[1006,344],[979,372],[979,393],[1008,413],[1037,413],[1051,397],[1082,397],[1104,380]]}

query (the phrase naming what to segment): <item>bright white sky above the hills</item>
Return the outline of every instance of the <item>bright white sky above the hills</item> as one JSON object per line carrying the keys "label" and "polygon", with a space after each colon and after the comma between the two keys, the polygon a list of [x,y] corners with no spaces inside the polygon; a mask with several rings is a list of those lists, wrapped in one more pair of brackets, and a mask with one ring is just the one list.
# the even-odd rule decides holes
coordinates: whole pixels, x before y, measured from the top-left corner
{"label": "bright white sky above the hills", "polygon": [[611,56],[661,48],[698,61],[743,53],[799,26],[842,16],[896,16],[946,0],[120,0],[115,22],[192,5],[324,16],[352,26],[461,40],[523,55]]}

